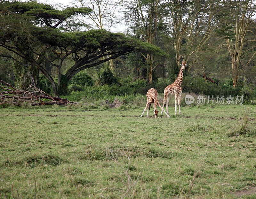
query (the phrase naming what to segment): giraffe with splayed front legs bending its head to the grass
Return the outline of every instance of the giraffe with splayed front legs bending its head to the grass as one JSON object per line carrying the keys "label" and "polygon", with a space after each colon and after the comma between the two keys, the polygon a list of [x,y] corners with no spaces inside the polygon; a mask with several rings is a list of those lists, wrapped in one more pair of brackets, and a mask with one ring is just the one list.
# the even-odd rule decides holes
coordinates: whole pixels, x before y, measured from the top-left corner
{"label": "giraffe with splayed front legs bending its head to the grass", "polygon": [[[142,115],[144,114],[144,112],[146,111],[148,107],[148,105],[150,105],[151,103],[154,103],[154,114],[155,114],[155,118],[157,117],[158,111],[156,111],[156,105],[160,107],[160,109],[162,109],[162,112],[164,111],[164,109],[161,107],[160,103],[158,102],[157,99],[157,91],[154,88],[150,88],[147,92],[147,104],[146,104],[146,108],[144,109]],[[149,109],[148,109],[149,110]],[[170,118],[170,116],[164,111],[164,113],[167,115],[168,118]],[[142,117],[142,115],[140,117]],[[147,114],[147,118],[148,118],[148,114]]]}

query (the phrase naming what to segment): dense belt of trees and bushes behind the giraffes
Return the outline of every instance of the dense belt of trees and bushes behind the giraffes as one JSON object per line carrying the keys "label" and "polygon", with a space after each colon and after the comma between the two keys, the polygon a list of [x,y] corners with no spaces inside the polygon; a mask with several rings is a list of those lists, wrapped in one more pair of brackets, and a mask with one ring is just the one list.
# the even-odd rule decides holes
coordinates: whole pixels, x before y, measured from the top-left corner
{"label": "dense belt of trees and bushes behind the giraffes", "polygon": [[[152,87],[162,93],[186,61],[183,92],[244,95],[250,102],[255,6],[252,0],[77,0],[65,8],[3,1],[0,79],[74,101],[123,96],[127,102]],[[108,32],[120,23],[127,24],[125,35]],[[94,55],[100,58],[82,62]]]}

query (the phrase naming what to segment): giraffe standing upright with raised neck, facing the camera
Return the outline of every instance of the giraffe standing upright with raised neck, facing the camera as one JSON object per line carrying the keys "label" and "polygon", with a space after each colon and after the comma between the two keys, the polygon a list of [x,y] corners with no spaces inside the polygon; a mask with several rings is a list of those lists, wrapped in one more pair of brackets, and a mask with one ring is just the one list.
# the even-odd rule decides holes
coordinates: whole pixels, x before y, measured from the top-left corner
{"label": "giraffe standing upright with raised neck, facing the camera", "polygon": [[[188,65],[188,64],[186,64],[186,62],[182,62],[182,65],[180,67],[180,72],[179,72],[179,75],[178,75],[177,79],[173,82],[173,84],[167,86],[164,89],[163,108],[164,108],[164,103],[166,103],[166,112],[167,112],[167,114],[169,114],[168,102],[169,102],[169,99],[170,99],[171,95],[175,95],[175,115],[177,115],[177,101],[179,101],[179,112],[181,114],[180,98],[181,98],[182,88],[181,88],[180,85],[182,83],[183,71],[185,70],[186,65]],[[163,115],[163,109],[162,109],[161,114]]]}

